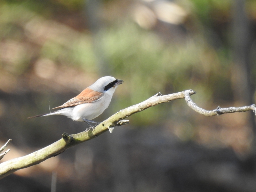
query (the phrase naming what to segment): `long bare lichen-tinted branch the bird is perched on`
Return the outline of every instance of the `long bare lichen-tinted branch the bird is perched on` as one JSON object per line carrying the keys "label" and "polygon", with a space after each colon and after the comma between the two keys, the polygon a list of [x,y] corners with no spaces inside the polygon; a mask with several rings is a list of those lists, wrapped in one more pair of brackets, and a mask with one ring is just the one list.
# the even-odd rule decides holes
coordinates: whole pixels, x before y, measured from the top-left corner
{"label": "long bare lichen-tinted branch the bird is perched on", "polygon": [[128,120],[123,120],[134,113],[138,113],[143,111],[149,107],[155,106],[160,103],[169,102],[171,100],[176,99],[184,99],[186,100],[188,106],[195,110],[196,112],[205,115],[205,116],[215,116],[221,115],[224,113],[234,113],[234,112],[245,112],[248,110],[253,110],[255,113],[255,105],[251,105],[248,107],[241,107],[241,108],[217,108],[213,111],[207,111],[200,107],[198,107],[190,98],[190,95],[195,94],[193,90],[187,90],[183,92],[173,93],[169,95],[162,95],[161,93],[157,93],[153,97],[149,99],[133,105],[131,107],[125,108],[116,114],[110,116],[107,120],[103,121],[99,125],[95,127],[93,130],[89,130],[87,132],[80,132],[77,134],[69,135],[68,133],[62,134],[62,139],[52,143],[51,145],[42,148],[34,153],[28,154],[23,157],[18,157],[15,159],[11,159],[0,164],[0,179],[6,177],[7,175],[26,167],[30,167],[35,164],[39,164],[44,160],[51,158],[53,156],[59,155],[60,153],[64,152],[66,149],[80,144],[84,141],[93,139],[98,137],[100,134],[109,130],[113,132],[115,126],[121,126],[123,124],[128,124]]}

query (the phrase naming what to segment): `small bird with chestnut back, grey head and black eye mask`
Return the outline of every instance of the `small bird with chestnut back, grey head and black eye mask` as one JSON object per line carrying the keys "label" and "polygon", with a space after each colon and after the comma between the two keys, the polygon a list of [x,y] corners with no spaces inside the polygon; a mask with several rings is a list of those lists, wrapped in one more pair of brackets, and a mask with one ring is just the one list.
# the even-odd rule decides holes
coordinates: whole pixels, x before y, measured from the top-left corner
{"label": "small bird with chestnut back, grey head and black eye mask", "polygon": [[28,119],[49,115],[64,115],[74,121],[84,121],[90,128],[92,128],[94,126],[90,123],[96,125],[100,123],[91,120],[98,117],[106,108],[108,108],[117,85],[122,83],[124,83],[123,80],[111,76],[101,77],[76,97],[68,100],[59,107],[52,108],[59,109],[58,111],[28,117]]}

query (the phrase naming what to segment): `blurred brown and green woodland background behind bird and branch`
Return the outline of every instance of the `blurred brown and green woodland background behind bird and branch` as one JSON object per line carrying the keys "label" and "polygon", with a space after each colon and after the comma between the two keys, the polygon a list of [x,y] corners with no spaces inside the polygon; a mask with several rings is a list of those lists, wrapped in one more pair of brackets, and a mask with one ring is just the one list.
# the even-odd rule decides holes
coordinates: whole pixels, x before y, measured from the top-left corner
{"label": "blurred brown and green woodland background behind bird and branch", "polygon": [[[96,121],[193,89],[204,109],[255,103],[256,0],[1,0],[1,162],[86,129],[49,112],[102,76],[124,80]],[[0,180],[0,191],[256,191],[253,113],[184,100]],[[56,180],[56,182],[54,182]]]}

